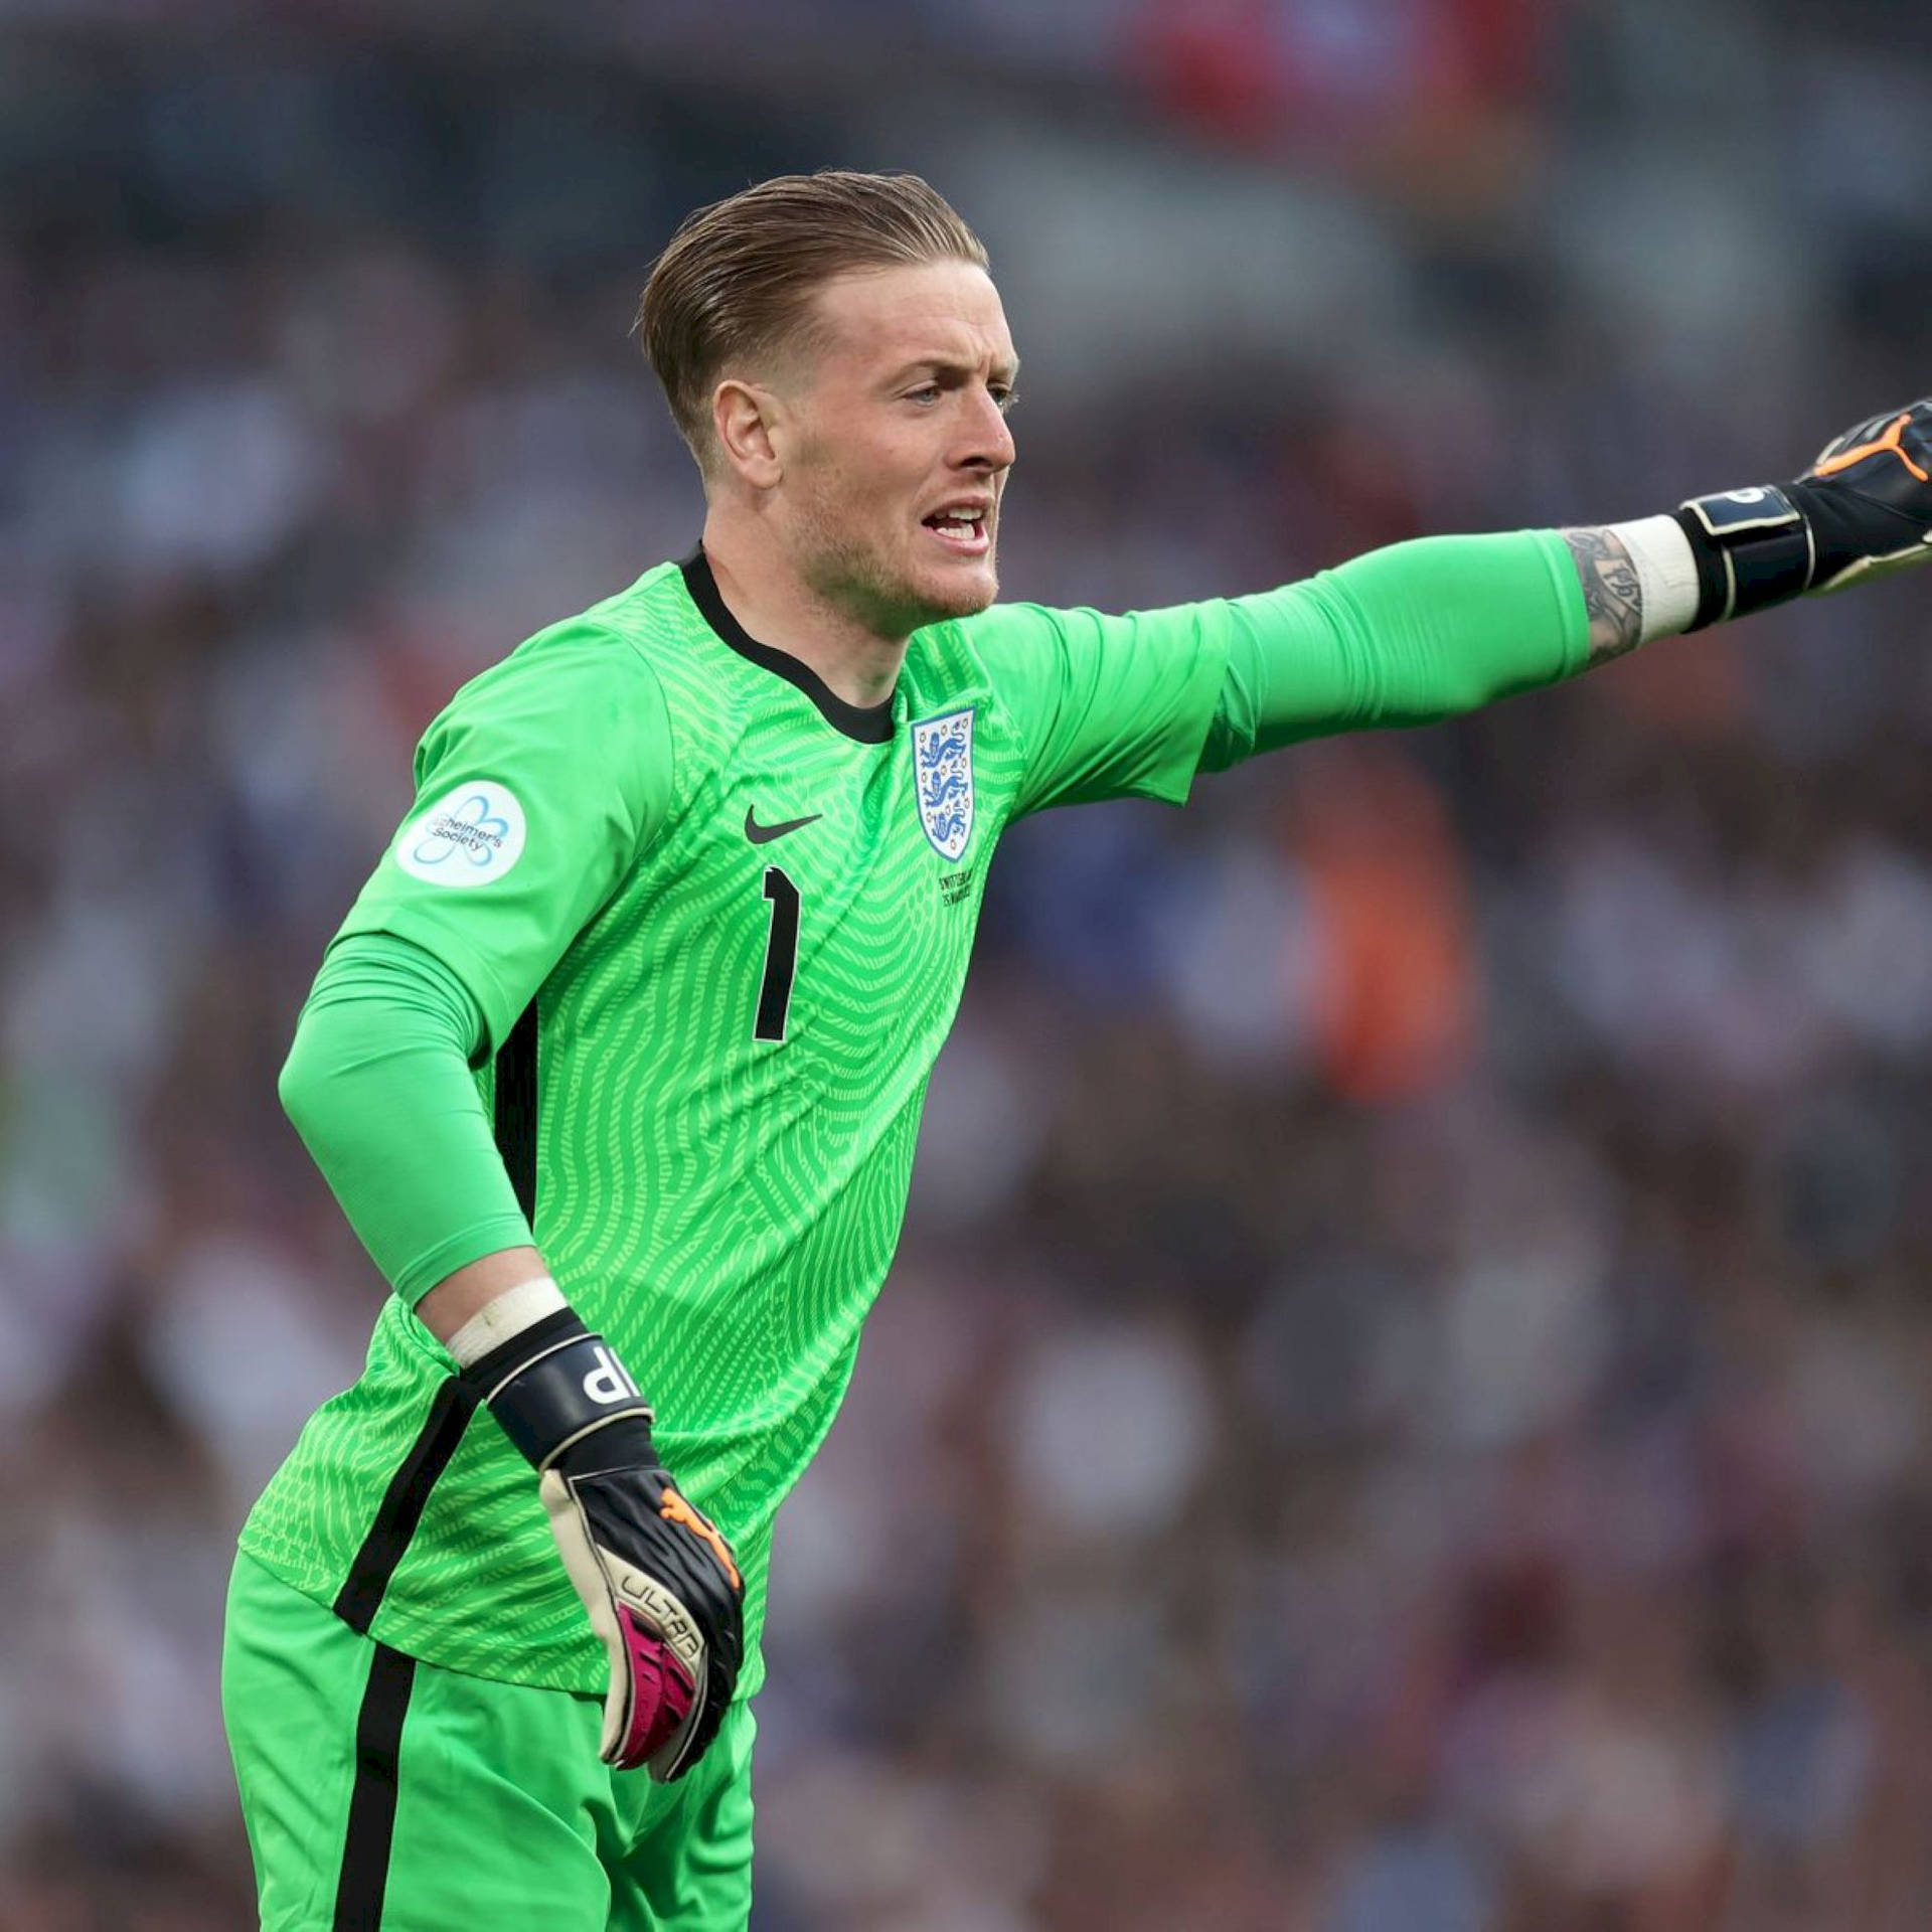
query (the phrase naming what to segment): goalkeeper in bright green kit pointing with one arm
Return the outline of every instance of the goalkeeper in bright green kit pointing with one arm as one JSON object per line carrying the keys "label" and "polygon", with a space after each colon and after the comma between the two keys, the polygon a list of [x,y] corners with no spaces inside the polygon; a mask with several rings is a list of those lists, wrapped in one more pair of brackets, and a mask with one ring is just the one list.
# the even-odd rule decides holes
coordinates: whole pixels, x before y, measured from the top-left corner
{"label": "goalkeeper in bright green kit pointing with one arm", "polygon": [[1918,562],[1797,481],[1101,616],[997,605],[1016,357],[923,182],[765,182],[639,311],[701,547],[429,726],[282,1072],[394,1294],[242,1532],[263,1924],[742,1926],[773,1515],[885,1277],[1001,833]]}

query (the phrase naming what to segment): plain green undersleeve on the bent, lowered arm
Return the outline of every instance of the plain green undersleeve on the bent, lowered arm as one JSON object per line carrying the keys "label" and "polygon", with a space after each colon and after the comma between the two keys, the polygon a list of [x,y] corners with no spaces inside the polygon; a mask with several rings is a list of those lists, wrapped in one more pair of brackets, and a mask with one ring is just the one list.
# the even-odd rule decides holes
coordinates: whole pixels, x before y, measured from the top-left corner
{"label": "plain green undersleeve on the bent, lowered arm", "polygon": [[440,960],[352,933],[323,960],[280,1097],[342,1211],[396,1293],[531,1240],[471,1061],[483,1010]]}

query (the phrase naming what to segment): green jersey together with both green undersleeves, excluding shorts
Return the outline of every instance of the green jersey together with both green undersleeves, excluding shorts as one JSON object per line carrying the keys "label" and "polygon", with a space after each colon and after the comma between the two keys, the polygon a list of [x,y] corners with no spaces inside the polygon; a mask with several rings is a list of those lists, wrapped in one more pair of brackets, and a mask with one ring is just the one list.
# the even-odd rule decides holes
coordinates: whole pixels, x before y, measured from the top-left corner
{"label": "green jersey together with both green undersleeves, excluding shorts", "polygon": [[[773,1517],[891,1262],[1005,825],[1179,804],[1198,767],[1468,709],[1578,668],[1584,641],[1575,568],[1538,531],[1128,616],[997,605],[912,638],[883,742],[713,630],[676,566],[533,638],[425,734],[417,804],[298,1032],[292,1111],[400,1294],[243,1548],[319,1602],[342,1588],[452,1370],[410,1300],[526,1238],[483,1107],[489,1053],[535,999],[535,1242],[738,1551],[750,1696]],[[960,773],[970,810],[935,808]],[[790,1003],[759,1037],[784,906]],[[601,1690],[603,1648],[489,1416],[429,1493],[373,1634]]]}

